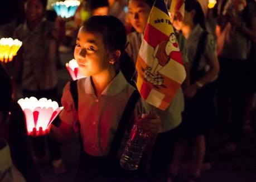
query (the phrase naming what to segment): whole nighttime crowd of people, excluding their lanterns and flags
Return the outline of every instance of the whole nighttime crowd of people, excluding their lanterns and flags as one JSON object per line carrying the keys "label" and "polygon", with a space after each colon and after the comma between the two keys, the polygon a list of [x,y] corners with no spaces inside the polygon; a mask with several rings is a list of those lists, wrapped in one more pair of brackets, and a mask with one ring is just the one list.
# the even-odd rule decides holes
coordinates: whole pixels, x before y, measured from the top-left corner
{"label": "whole nighttime crowd of people, excluding their lanterns and flags", "polygon": [[[169,9],[171,0],[165,2]],[[57,17],[47,0],[2,6],[0,36],[17,38],[22,47],[12,62],[0,64],[0,181],[41,181],[35,162],[47,150],[54,173],[65,173],[60,146],[73,135],[81,147],[74,181],[181,181],[183,163],[186,181],[202,181],[212,146],[218,143],[223,155],[239,148],[243,132],[252,132],[255,109],[256,2],[221,0],[209,9],[206,0],[187,0],[183,16],[170,12],[187,76],[168,108],[152,113],[134,73],[153,3],[84,0],[68,19]],[[60,99],[63,47],[74,50],[86,78],[67,82]],[[24,98],[64,107],[50,135],[27,136],[18,85]],[[135,123],[152,140],[139,168],[129,171],[119,160]]]}

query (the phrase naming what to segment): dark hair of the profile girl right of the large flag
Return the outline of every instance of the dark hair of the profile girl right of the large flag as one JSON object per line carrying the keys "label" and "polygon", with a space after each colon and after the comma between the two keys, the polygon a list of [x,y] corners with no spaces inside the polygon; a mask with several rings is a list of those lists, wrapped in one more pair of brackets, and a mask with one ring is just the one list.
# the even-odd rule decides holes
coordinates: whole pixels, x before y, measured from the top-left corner
{"label": "dark hair of the profile girl right of the large flag", "polygon": [[191,12],[193,9],[195,10],[195,16],[194,16],[193,22],[195,24],[200,24],[200,26],[203,29],[205,29],[205,16],[204,16],[204,12],[202,12],[202,8],[199,2],[196,0],[185,1],[185,10],[187,12]]}

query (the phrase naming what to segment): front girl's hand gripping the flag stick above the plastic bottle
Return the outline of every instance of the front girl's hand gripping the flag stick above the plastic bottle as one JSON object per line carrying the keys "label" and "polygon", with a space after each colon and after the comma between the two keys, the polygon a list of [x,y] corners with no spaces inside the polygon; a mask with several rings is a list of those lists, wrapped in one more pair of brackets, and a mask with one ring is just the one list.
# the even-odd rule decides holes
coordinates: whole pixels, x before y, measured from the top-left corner
{"label": "front girl's hand gripping the flag stick above the plastic bottle", "polygon": [[137,121],[139,128],[147,130],[153,134],[158,133],[161,127],[161,119],[156,114],[142,114]]}

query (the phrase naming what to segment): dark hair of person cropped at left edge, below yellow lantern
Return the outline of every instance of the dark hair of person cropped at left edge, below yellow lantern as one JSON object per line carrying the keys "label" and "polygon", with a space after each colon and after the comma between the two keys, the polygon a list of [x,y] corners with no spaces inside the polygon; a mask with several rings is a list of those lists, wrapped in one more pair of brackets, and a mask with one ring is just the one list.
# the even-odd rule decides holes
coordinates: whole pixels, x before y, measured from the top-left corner
{"label": "dark hair of person cropped at left edge, below yellow lantern", "polygon": [[7,115],[12,100],[12,84],[6,69],[0,64],[0,111]]}

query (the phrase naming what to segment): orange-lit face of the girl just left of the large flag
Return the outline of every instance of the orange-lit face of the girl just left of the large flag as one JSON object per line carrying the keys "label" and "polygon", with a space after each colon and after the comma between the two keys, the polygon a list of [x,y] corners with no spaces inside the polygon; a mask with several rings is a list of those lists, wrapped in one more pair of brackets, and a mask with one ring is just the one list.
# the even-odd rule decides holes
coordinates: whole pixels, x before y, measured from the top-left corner
{"label": "orange-lit face of the girl just left of the large flag", "polygon": [[146,1],[130,0],[128,7],[129,20],[138,33],[144,33],[150,13],[150,6]]}

